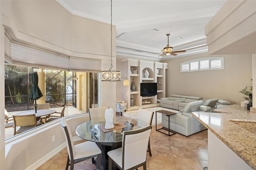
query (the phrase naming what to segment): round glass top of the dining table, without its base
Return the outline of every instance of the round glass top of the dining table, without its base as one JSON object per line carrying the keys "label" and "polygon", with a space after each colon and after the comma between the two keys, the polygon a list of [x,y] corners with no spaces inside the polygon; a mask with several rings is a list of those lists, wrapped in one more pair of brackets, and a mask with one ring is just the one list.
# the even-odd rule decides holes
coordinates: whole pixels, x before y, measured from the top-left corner
{"label": "round glass top of the dining table, without its base", "polygon": [[[126,119],[127,122],[132,123],[134,127],[133,130],[139,128],[137,126],[137,122],[135,120],[131,120],[129,118]],[[124,125],[126,121],[120,121],[119,125]],[[111,130],[109,132],[103,132],[99,127],[105,126],[105,119],[93,119],[90,121],[86,121],[80,124],[76,128],[76,134],[85,140],[93,141],[93,142],[102,142],[102,143],[115,143],[115,142],[122,142],[122,128]],[[114,125],[114,126],[119,126]]]}

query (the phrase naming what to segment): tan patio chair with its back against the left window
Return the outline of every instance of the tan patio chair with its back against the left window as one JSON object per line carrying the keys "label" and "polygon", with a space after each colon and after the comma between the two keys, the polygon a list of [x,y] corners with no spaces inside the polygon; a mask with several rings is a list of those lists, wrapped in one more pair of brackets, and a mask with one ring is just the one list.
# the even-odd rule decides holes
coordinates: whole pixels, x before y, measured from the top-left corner
{"label": "tan patio chair with its back against the left window", "polygon": [[[36,121],[36,114],[32,115],[13,115],[13,121],[14,121],[14,136],[16,134],[25,132],[27,130],[30,130],[38,125],[40,125],[42,119],[39,119],[39,121]],[[20,127],[17,130],[17,127]]]}

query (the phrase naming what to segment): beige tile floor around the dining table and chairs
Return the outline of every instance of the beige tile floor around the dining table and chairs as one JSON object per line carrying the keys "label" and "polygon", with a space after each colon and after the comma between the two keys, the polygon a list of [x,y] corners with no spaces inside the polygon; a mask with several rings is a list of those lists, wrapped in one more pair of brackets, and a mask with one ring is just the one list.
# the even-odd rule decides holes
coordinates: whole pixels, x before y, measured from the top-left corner
{"label": "beige tile floor around the dining table and chairs", "polygon": [[[121,117],[120,115],[117,116]],[[152,127],[150,146],[152,157],[147,153],[147,170],[203,170],[208,165],[207,130],[188,137],[181,134],[167,136],[157,132],[156,128]],[[67,155],[67,149],[64,148],[37,170],[65,169]],[[96,166],[92,164],[91,159],[74,165],[74,170],[93,169],[96,169]],[[143,168],[138,169],[142,170]]]}

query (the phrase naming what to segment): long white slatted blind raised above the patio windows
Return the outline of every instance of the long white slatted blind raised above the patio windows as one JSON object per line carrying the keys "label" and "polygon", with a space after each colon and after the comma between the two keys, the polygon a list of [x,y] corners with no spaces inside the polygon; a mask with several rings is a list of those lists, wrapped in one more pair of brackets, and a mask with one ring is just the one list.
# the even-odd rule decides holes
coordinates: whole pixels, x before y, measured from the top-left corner
{"label": "long white slatted blind raised above the patio windows", "polygon": [[82,57],[69,57],[15,42],[10,42],[10,56],[12,63],[18,65],[63,71],[101,71],[100,60]]}

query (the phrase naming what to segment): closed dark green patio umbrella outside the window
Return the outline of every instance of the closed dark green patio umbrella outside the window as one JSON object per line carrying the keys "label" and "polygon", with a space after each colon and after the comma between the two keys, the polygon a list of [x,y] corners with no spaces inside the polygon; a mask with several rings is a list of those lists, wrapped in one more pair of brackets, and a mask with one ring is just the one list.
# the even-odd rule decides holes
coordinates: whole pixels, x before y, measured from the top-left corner
{"label": "closed dark green patio umbrella outside the window", "polygon": [[29,98],[31,100],[34,100],[34,108],[36,110],[36,100],[40,99],[43,94],[41,92],[41,90],[38,87],[38,74],[37,73],[32,73],[32,88],[30,90],[30,95]]}

